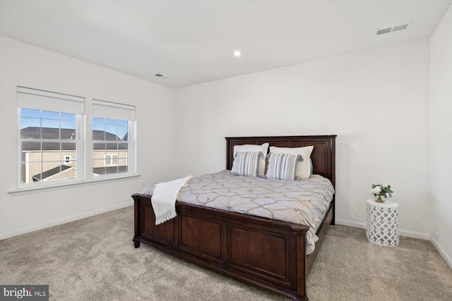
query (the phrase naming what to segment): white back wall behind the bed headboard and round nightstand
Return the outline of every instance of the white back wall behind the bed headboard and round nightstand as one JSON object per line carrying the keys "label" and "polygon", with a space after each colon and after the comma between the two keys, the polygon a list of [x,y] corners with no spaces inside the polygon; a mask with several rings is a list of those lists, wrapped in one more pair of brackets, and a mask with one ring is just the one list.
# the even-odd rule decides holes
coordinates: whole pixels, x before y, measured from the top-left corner
{"label": "white back wall behind the bed headboard and round nightstand", "polygon": [[[249,54],[251,55],[251,54]],[[390,184],[402,233],[429,239],[429,41],[177,89],[177,176],[225,168],[226,136],[336,134],[336,219],[364,226]]]}

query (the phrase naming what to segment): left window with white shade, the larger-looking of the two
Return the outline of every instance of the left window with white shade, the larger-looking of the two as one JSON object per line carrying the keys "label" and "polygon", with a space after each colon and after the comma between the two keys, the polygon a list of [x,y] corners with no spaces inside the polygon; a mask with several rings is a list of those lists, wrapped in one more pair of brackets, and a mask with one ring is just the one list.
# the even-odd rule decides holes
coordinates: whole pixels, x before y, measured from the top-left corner
{"label": "left window with white shade, the larger-looking of the two", "polygon": [[83,101],[81,97],[18,87],[19,186],[81,178],[78,158]]}

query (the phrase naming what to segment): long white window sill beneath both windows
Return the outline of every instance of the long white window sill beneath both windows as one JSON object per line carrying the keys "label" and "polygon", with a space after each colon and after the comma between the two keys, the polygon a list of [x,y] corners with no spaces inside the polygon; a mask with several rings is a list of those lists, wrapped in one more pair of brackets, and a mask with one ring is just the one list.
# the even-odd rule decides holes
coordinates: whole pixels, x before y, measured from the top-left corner
{"label": "long white window sill beneath both windows", "polygon": [[120,181],[120,180],[130,180],[130,179],[139,178],[139,177],[141,177],[141,174],[119,176],[119,177],[114,177],[114,178],[97,178],[95,180],[90,180],[90,181],[80,181],[80,182],[72,182],[72,183],[60,183],[60,184],[52,185],[52,186],[17,188],[16,190],[9,190],[8,193],[10,195],[13,195],[13,196],[16,196],[16,195],[28,195],[30,193],[35,193],[35,192],[45,192],[45,191],[61,190],[61,189],[81,187],[81,186],[88,186],[88,185],[97,185],[97,184],[105,183],[105,182],[116,182],[116,181]]}

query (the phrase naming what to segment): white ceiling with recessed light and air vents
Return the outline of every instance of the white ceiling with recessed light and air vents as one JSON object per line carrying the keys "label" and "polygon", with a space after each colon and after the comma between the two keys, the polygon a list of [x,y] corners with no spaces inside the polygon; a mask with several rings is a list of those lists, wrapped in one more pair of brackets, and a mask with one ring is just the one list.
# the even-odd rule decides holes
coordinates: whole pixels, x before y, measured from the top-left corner
{"label": "white ceiling with recessed light and air vents", "polygon": [[[184,87],[428,38],[451,3],[2,0],[0,33]],[[375,34],[410,21],[408,30]]]}

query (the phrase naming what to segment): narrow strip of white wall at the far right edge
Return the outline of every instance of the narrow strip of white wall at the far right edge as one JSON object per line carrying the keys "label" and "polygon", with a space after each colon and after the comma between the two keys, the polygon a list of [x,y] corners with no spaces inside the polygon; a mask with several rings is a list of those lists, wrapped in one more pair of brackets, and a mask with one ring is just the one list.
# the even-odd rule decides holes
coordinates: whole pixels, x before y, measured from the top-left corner
{"label": "narrow strip of white wall at the far right edge", "polygon": [[452,268],[452,7],[430,38],[432,242]]}

